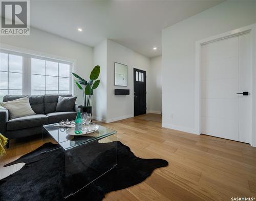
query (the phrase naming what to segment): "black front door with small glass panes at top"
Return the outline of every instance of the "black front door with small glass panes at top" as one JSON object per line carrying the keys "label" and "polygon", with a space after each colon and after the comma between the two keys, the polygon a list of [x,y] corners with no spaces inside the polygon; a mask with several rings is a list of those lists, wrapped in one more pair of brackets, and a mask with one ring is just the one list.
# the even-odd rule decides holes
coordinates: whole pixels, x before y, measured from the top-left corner
{"label": "black front door with small glass panes at top", "polygon": [[146,114],[146,72],[133,69],[134,116]]}

